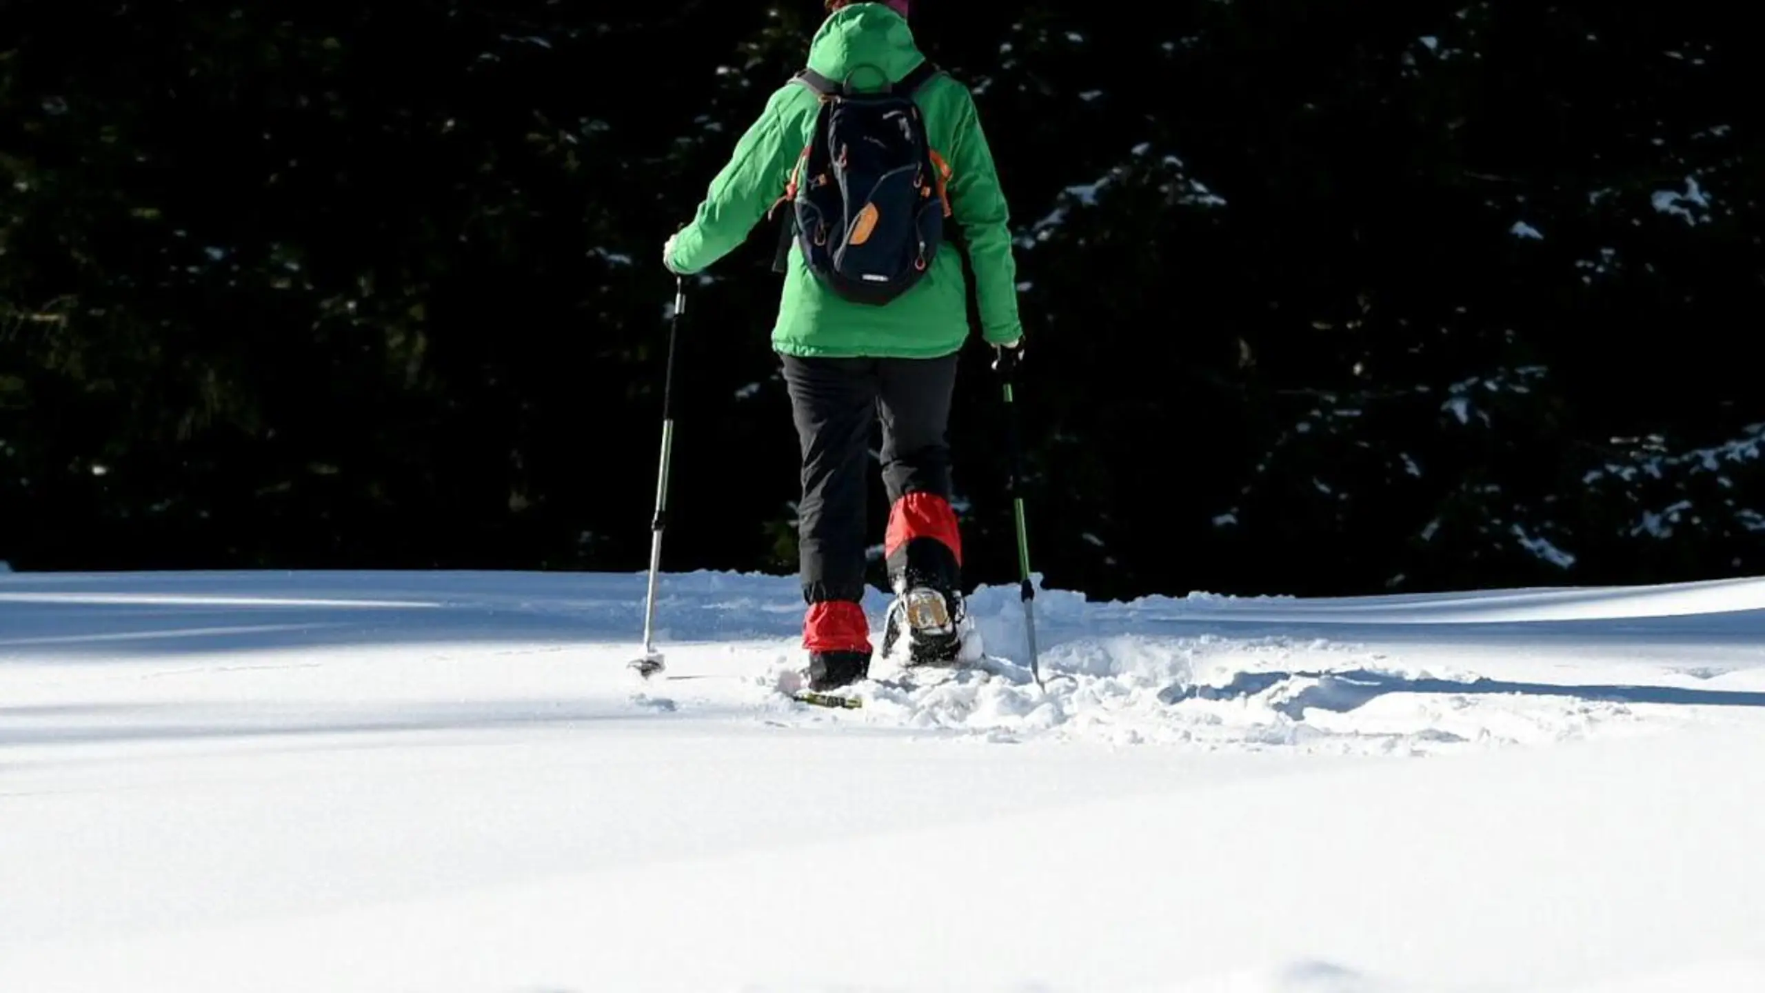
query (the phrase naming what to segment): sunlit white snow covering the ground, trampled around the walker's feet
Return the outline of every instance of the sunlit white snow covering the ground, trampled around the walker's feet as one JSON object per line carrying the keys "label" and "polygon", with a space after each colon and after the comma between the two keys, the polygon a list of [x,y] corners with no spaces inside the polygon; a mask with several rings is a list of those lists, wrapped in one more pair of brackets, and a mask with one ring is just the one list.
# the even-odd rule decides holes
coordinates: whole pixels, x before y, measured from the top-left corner
{"label": "sunlit white snow covering the ground, trampled around the walker's feet", "polygon": [[1765,581],[1036,608],[826,710],[789,578],[0,576],[0,989],[1765,989]]}

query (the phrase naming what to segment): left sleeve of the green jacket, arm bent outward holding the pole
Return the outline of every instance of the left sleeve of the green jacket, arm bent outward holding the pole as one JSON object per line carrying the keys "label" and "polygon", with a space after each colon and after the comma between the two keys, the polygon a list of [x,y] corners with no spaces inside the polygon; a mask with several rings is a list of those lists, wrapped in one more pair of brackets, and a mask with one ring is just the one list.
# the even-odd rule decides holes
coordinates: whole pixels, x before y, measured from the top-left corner
{"label": "left sleeve of the green jacket, arm bent outward holding the pole", "polygon": [[729,163],[711,178],[692,223],[674,237],[674,270],[701,272],[747,240],[754,224],[784,194],[798,152],[784,134],[785,90],[766,101],[759,120],[748,125]]}

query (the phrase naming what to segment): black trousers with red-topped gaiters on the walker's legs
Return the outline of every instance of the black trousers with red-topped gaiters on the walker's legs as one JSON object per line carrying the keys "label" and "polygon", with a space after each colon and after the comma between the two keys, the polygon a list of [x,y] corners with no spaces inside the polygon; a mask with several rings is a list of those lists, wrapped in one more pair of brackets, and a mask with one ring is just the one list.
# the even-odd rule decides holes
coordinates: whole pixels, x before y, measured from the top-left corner
{"label": "black trousers with red-topped gaiters on the walker's legs", "polygon": [[[868,650],[865,592],[872,431],[881,424],[891,576],[955,588],[960,541],[950,509],[950,424],[957,353],[937,359],[800,359],[784,380],[803,456],[798,550],[810,650]],[[856,618],[854,618],[856,613]]]}

